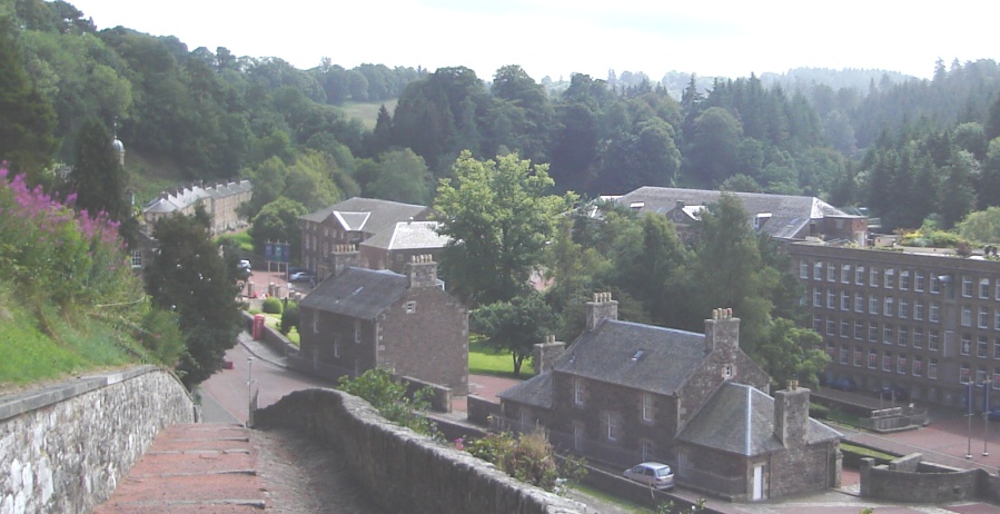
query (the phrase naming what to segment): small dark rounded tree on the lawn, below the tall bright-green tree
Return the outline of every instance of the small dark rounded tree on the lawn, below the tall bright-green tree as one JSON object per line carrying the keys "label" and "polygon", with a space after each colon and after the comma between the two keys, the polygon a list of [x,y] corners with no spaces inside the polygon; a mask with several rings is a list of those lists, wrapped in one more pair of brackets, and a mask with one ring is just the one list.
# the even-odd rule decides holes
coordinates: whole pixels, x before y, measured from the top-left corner
{"label": "small dark rounded tree on the lawn, below the tall bright-green tree", "polygon": [[511,352],[514,375],[519,376],[521,365],[532,355],[535,343],[543,342],[555,328],[555,314],[542,294],[532,290],[473,310],[472,325],[486,336],[489,346]]}

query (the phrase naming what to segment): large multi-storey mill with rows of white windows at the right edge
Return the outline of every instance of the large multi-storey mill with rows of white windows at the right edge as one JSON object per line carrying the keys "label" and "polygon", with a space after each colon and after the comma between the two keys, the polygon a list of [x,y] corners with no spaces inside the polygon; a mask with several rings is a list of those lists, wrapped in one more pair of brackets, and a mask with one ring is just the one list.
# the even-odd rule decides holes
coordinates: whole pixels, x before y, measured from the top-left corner
{"label": "large multi-storey mill with rows of white windows at the right edge", "polygon": [[832,360],[828,384],[963,406],[971,382],[979,406],[989,380],[1000,404],[1000,261],[821,243],[785,251]]}

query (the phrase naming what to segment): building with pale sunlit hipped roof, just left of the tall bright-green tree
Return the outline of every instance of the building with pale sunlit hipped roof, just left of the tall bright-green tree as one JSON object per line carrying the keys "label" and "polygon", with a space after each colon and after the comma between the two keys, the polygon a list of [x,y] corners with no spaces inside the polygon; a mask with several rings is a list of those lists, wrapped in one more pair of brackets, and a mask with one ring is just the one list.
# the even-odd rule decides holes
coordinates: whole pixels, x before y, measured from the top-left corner
{"label": "building with pale sunlit hipped roof, just left of the tall bright-green tree", "polygon": [[392,269],[404,273],[414,256],[440,258],[451,237],[435,231],[435,221],[399,221],[358,245],[362,266],[369,269]]}

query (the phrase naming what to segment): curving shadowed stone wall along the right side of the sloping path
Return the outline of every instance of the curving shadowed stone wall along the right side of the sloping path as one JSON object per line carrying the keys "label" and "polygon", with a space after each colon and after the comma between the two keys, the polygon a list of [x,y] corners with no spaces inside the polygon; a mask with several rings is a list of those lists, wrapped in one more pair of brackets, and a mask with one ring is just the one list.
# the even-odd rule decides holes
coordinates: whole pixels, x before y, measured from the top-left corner
{"label": "curving shadowed stone wall along the right side of the sloping path", "polygon": [[333,444],[390,513],[582,513],[584,506],[526,486],[465,452],[386,422],[367,402],[334,389],[291,393],[256,414],[257,427],[293,427]]}

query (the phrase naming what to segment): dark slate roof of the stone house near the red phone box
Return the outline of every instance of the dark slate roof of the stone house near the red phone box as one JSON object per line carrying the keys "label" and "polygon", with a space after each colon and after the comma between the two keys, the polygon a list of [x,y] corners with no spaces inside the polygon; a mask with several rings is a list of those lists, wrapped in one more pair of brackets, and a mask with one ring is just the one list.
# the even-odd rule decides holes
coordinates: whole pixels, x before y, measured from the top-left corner
{"label": "dark slate roof of the stone house near the red phone box", "polygon": [[375,319],[398,300],[409,285],[405,275],[388,270],[346,268],[323,280],[299,304],[301,307]]}

